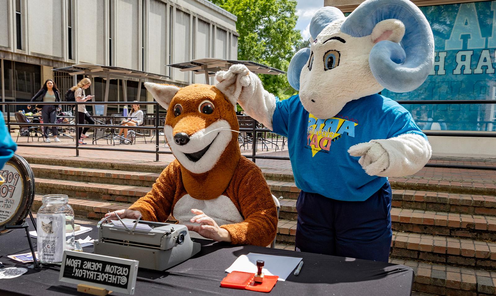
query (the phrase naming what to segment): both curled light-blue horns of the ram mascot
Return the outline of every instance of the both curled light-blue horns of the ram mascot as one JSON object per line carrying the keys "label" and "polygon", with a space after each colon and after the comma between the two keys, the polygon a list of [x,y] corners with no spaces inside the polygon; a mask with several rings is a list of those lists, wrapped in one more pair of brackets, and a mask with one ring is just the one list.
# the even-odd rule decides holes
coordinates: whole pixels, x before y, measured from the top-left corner
{"label": "both curled light-blue horns of the ram mascot", "polygon": [[[342,18],[345,16],[338,8],[319,9],[310,23],[310,41],[331,22]],[[405,26],[405,34],[399,43],[377,42],[370,52],[370,69],[384,88],[399,93],[412,91],[425,81],[434,62],[433,33],[415,4],[404,0],[365,1],[346,17],[340,31],[353,37],[368,36],[377,23],[386,19],[400,20]],[[291,59],[288,81],[296,90],[300,89],[301,70],[309,58],[310,49],[305,48]]]}

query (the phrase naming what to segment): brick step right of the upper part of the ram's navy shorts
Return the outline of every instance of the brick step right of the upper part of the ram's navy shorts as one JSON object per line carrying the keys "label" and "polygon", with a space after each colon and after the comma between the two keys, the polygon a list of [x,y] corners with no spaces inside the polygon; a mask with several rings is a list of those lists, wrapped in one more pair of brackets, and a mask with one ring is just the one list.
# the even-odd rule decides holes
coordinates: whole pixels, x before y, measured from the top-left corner
{"label": "brick step right of the upper part of the ram's navy shorts", "polygon": [[496,216],[496,196],[393,190],[392,206],[414,210]]}

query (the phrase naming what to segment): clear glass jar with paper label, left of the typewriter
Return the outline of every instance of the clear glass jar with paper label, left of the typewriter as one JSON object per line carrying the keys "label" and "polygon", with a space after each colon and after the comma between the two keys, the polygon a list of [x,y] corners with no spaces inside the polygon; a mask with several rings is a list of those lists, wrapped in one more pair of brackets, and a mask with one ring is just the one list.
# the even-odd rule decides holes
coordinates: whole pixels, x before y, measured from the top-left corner
{"label": "clear glass jar with paper label, left of the typewriter", "polygon": [[42,263],[61,263],[64,250],[74,250],[74,210],[65,194],[43,196],[36,215],[38,258]]}

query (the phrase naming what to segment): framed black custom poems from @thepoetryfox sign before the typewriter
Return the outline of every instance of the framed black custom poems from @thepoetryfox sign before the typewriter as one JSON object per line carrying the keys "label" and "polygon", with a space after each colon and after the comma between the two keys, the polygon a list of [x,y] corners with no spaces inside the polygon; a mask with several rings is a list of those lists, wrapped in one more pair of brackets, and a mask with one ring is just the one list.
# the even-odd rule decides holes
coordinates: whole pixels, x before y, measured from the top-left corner
{"label": "framed black custom poems from @thepoetryfox sign before the typewriter", "polygon": [[133,295],[137,271],[136,260],[64,251],[59,281]]}

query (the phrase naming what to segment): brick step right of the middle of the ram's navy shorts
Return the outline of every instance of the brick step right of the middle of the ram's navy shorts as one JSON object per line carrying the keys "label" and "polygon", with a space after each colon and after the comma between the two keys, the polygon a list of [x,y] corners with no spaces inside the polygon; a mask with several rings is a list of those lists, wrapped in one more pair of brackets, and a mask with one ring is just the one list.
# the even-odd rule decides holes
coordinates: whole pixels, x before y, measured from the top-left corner
{"label": "brick step right of the middle of the ram's navy shorts", "polygon": [[391,208],[392,229],[496,242],[496,217]]}

